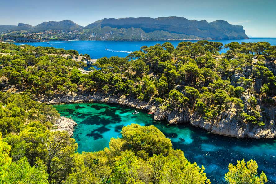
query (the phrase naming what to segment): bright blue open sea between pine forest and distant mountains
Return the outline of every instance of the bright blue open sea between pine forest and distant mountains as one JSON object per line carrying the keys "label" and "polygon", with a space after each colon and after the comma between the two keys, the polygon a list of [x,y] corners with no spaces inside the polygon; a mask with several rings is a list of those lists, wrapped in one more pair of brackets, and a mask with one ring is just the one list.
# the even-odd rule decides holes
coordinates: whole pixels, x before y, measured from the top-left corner
{"label": "bright blue open sea between pine forest and distant mountains", "polygon": [[[198,40],[190,40],[197,42]],[[230,42],[269,42],[271,45],[276,45],[275,38],[253,38],[246,40],[211,40],[214,42],[222,42],[227,44]],[[119,56],[126,57],[130,52],[140,50],[141,46],[153,46],[157,43],[163,44],[164,42],[171,42],[175,47],[181,40],[141,40],[141,41],[53,41],[49,42],[31,42],[31,43],[15,43],[16,45],[29,44],[32,46],[55,47],[63,49],[74,49],[82,54],[89,54],[92,59],[101,57]],[[222,50],[221,52],[225,52]]]}

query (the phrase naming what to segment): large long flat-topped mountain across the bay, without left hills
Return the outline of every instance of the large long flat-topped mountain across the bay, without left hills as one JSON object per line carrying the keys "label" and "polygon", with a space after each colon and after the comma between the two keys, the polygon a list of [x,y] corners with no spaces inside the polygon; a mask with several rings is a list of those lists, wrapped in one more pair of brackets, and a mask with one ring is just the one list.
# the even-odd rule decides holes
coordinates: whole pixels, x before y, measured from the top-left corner
{"label": "large long flat-topped mountain across the bay, without left hills", "polygon": [[243,26],[223,20],[188,20],[183,17],[103,19],[89,24],[92,40],[113,39],[248,39]]}

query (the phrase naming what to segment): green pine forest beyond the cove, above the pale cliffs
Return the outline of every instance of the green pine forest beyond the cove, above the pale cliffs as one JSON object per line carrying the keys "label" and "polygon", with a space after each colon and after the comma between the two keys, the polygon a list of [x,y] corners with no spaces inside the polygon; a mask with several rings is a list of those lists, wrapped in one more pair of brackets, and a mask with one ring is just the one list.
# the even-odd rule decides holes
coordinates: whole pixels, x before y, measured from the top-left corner
{"label": "green pine forest beyond the cove, above the pale cliffs", "polygon": [[197,112],[206,120],[235,109],[240,122],[268,125],[270,119],[261,109],[276,104],[276,47],[232,42],[219,55],[222,47],[209,41],[180,42],[176,48],[169,42],[143,46],[126,58],[100,58],[95,65],[101,70],[82,74],[77,69],[82,62],[73,59],[78,57],[75,50],[2,43],[0,75],[3,88],[36,95],[98,91],[154,101],[167,111]]}

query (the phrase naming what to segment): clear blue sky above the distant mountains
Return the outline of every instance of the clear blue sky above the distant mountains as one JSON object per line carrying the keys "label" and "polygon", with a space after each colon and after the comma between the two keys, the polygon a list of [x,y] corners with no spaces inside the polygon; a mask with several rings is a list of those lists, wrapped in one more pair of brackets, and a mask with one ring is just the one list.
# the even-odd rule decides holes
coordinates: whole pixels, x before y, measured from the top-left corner
{"label": "clear blue sky above the distant mountains", "polygon": [[0,24],[69,19],[86,26],[103,18],[179,16],[226,20],[253,37],[276,37],[276,0],[0,0]]}

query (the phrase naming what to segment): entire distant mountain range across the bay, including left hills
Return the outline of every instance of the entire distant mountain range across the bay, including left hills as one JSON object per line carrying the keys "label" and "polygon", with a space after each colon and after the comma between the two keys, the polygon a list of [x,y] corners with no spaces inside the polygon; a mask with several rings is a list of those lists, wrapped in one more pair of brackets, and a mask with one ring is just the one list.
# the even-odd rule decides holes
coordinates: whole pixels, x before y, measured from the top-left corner
{"label": "entire distant mountain range across the bay, including left hills", "polygon": [[82,27],[71,20],[36,26],[0,25],[0,41],[248,39],[243,26],[183,17],[102,19]]}

